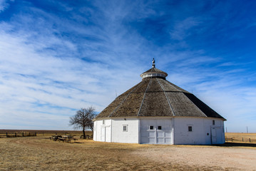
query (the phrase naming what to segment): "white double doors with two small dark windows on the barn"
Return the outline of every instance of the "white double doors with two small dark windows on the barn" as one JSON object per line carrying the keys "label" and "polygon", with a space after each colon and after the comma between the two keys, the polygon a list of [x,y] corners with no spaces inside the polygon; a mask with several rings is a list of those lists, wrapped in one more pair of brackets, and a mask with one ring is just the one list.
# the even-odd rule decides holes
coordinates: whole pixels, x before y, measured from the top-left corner
{"label": "white double doors with two small dark windows on the barn", "polygon": [[171,119],[140,120],[140,143],[170,144],[171,143]]}

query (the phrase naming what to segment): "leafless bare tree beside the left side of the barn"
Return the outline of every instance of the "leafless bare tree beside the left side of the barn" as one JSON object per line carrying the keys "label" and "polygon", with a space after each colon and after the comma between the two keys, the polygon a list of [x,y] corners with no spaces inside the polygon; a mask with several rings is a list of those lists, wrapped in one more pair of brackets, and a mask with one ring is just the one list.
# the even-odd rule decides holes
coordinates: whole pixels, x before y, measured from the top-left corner
{"label": "leafless bare tree beside the left side of the barn", "polygon": [[73,125],[75,129],[83,128],[83,138],[86,138],[86,128],[93,131],[93,118],[96,117],[95,108],[81,108],[76,111],[76,115],[70,117],[69,125]]}

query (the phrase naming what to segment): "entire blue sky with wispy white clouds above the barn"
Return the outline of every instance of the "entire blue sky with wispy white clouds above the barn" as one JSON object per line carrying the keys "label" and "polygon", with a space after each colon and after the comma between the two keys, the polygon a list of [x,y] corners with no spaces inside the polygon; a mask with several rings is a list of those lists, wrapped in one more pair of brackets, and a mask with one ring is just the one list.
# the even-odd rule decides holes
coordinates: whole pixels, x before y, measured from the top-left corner
{"label": "entire blue sky with wispy white clouds above the barn", "polygon": [[0,129],[70,130],[151,67],[256,133],[256,1],[0,0]]}

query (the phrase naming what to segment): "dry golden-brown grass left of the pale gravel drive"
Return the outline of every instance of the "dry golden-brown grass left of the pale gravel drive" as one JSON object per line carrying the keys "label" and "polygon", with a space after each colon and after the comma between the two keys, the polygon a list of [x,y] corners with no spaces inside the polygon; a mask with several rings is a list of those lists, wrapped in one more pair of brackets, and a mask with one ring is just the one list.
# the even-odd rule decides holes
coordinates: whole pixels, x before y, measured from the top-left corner
{"label": "dry golden-brown grass left of the pale gravel drive", "polygon": [[[78,140],[63,143],[48,138],[0,139],[0,170],[168,170],[130,152],[148,145]],[[183,166],[184,168],[184,166]],[[189,167],[193,168],[193,167]]]}

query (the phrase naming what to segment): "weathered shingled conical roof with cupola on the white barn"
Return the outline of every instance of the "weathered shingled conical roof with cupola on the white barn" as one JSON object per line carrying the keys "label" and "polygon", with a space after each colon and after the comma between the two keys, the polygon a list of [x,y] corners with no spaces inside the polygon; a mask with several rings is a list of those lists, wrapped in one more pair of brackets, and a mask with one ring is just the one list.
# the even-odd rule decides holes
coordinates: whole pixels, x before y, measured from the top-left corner
{"label": "weathered shingled conical roof with cupola on the white barn", "polygon": [[153,68],[140,75],[143,78],[140,83],[113,100],[97,115],[96,120],[108,117],[161,116],[222,118],[192,93],[166,81],[167,73],[155,68],[154,64]]}

